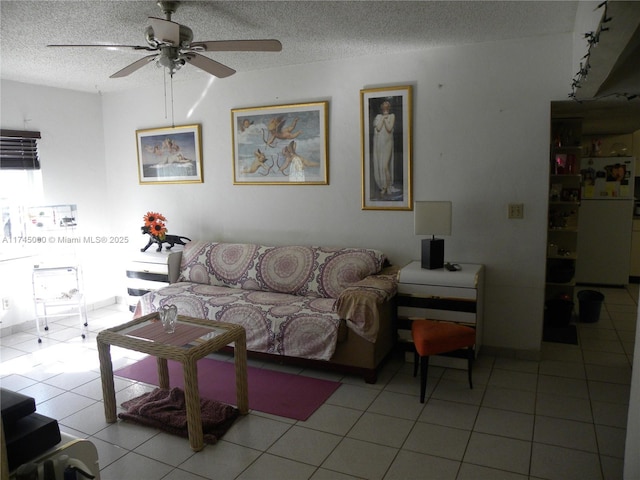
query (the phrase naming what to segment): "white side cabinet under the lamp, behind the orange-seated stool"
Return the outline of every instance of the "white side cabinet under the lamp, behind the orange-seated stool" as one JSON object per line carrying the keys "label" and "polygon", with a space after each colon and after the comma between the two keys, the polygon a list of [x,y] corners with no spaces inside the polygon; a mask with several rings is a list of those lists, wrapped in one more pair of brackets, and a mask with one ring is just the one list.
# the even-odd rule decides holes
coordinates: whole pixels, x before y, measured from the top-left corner
{"label": "white side cabinet under the lamp, behind the orange-seated stool", "polygon": [[[484,266],[462,263],[460,270],[428,270],[414,261],[400,270],[398,341],[413,349],[411,322],[426,318],[461,323],[476,329],[476,355],[482,345]],[[431,360],[430,360],[431,361]],[[467,368],[466,359],[437,357],[434,365]]]}

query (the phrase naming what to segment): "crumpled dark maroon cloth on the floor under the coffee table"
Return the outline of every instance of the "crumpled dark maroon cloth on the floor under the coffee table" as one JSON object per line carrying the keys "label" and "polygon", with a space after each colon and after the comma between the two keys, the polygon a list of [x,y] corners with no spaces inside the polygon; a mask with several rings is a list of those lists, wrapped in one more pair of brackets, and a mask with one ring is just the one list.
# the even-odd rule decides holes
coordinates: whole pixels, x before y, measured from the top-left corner
{"label": "crumpled dark maroon cloth on the floor under the coffee table", "polygon": [[[118,414],[123,420],[158,428],[173,435],[188,438],[187,407],[184,391],[179,388],[155,390],[122,404],[126,412]],[[200,399],[202,433],[208,444],[216,443],[238,418],[238,409],[231,405]]]}

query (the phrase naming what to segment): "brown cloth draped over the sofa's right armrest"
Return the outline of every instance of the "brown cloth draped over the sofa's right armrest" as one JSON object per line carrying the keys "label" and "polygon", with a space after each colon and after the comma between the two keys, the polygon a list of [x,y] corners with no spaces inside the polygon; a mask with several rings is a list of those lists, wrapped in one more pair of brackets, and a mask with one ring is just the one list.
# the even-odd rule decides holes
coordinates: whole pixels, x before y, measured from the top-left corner
{"label": "brown cloth draped over the sofa's right armrest", "polygon": [[392,299],[398,289],[397,267],[388,267],[345,288],[336,301],[340,318],[358,334],[375,342],[380,329],[379,306]]}

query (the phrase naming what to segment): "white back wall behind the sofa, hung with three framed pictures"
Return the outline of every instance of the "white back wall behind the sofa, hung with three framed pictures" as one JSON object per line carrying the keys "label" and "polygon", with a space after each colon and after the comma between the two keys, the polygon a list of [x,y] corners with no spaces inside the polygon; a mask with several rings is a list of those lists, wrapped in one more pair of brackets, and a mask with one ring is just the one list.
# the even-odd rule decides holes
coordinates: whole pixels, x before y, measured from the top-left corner
{"label": "white back wall behind the sofa, hung with three framed pictures", "polygon": [[[566,98],[571,35],[439,48],[174,80],[175,124],[199,123],[199,185],[139,185],[135,131],[170,126],[155,89],[105,94],[108,204],[116,233],[136,235],[148,210],[190,238],[367,246],[419,258],[413,214],[363,211],[359,90],[414,86],[416,200],[451,200],[447,260],[487,266],[484,344],[537,351],[542,331],[549,108]],[[232,184],[233,108],[329,101],[328,186]],[[507,204],[524,203],[524,220]],[[132,247],[144,245],[144,239]]]}

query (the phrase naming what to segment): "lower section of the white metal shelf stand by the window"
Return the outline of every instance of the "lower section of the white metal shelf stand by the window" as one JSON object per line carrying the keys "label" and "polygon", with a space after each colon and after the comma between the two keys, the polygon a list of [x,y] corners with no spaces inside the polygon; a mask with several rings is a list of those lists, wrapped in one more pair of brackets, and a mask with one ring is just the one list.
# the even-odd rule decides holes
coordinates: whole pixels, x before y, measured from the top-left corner
{"label": "lower section of the white metal shelf stand by the window", "polygon": [[34,265],[33,303],[36,313],[38,343],[41,325],[49,330],[49,318],[78,315],[82,323],[82,338],[86,336],[87,310],[78,265]]}

